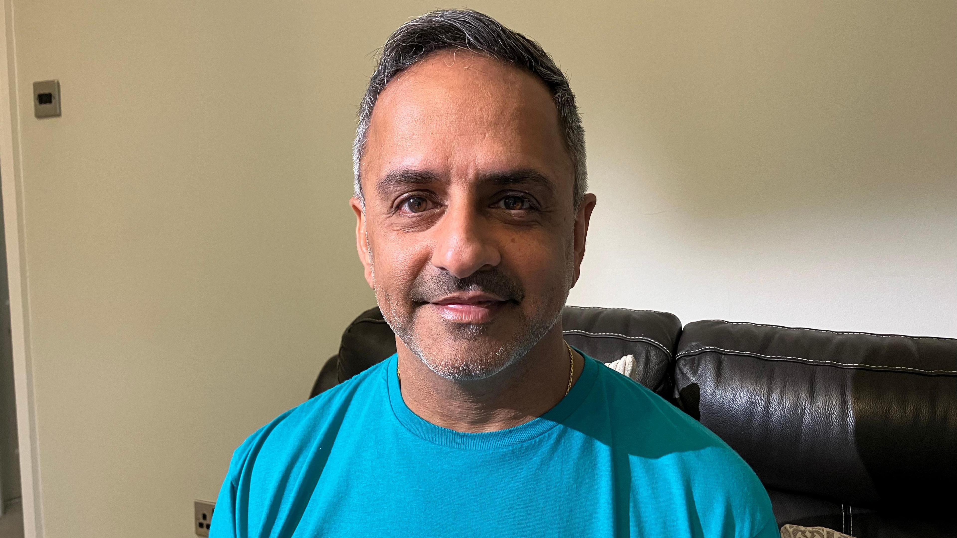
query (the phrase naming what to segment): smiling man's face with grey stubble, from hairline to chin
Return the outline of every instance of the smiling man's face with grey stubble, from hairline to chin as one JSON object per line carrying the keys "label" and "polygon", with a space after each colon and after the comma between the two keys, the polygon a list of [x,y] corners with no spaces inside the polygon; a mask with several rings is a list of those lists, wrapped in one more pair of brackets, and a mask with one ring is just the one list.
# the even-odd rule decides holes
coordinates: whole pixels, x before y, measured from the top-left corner
{"label": "smiling man's face with grey stubble, from hairline to chin", "polygon": [[545,85],[484,56],[438,53],[389,82],[367,136],[365,209],[352,206],[389,325],[449,379],[513,364],[561,314],[594,204],[573,210]]}

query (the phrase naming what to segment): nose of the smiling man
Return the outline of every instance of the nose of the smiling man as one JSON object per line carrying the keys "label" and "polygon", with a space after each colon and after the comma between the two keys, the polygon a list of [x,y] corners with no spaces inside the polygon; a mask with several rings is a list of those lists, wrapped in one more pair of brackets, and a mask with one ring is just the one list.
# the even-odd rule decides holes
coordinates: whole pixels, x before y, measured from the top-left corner
{"label": "nose of the smiling man", "polygon": [[487,222],[474,207],[450,206],[436,223],[432,264],[464,279],[501,262],[501,253]]}

